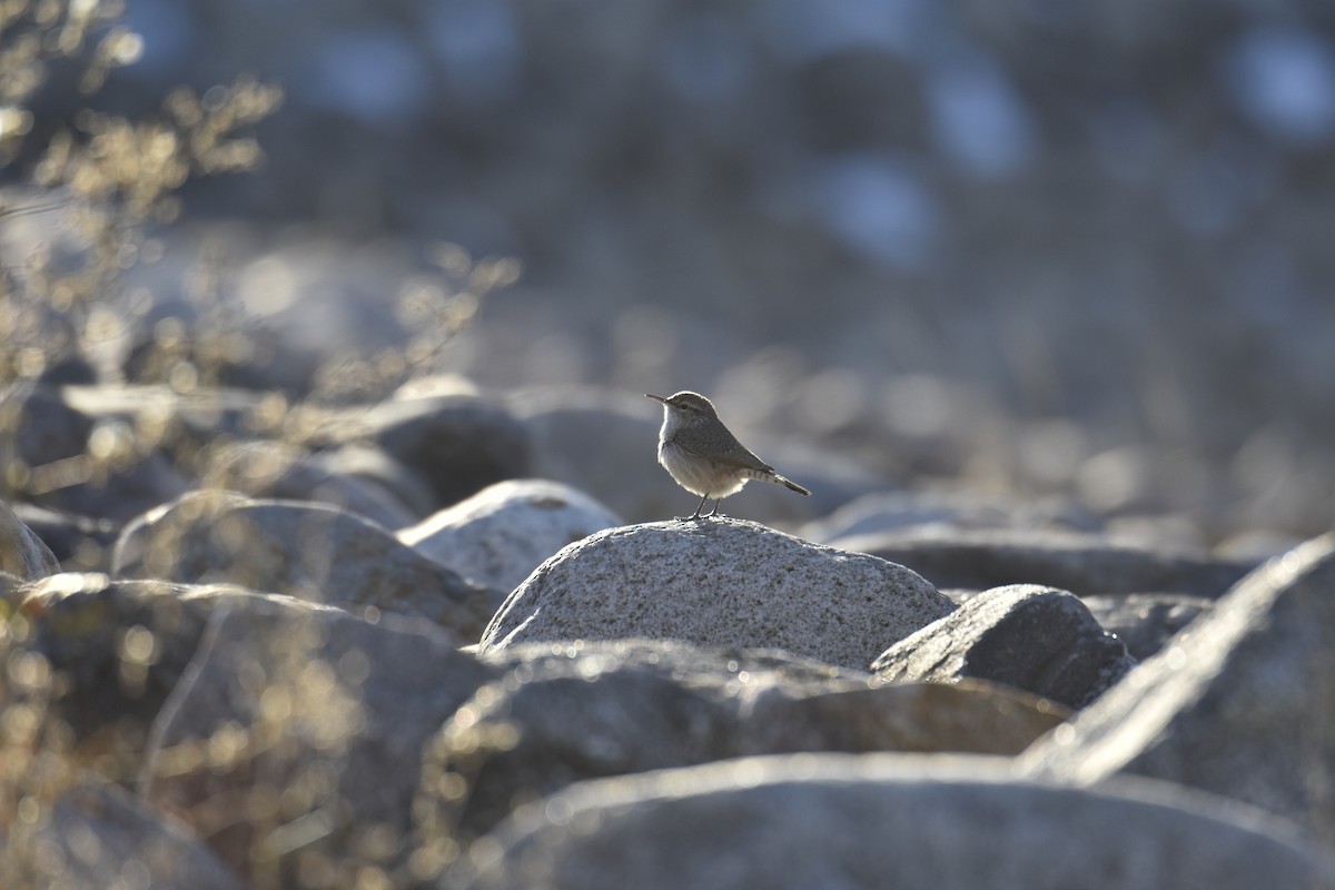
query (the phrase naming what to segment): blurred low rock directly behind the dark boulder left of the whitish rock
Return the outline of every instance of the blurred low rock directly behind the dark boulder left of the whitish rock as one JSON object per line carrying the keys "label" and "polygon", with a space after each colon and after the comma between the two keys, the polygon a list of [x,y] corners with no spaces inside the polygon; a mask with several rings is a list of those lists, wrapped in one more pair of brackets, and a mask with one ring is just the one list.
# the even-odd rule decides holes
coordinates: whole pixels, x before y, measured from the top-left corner
{"label": "blurred low rock directly behind the dark boulder left of the whitish rock", "polygon": [[300,448],[280,442],[232,446],[216,455],[202,487],[266,500],[327,503],[390,530],[417,522],[413,511],[383,488],[331,472]]}

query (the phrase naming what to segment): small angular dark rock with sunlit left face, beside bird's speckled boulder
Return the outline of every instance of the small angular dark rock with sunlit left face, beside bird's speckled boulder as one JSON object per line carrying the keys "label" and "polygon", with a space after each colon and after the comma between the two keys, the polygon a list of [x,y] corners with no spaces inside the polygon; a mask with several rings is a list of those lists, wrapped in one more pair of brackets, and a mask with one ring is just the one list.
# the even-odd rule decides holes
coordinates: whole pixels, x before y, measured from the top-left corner
{"label": "small angular dark rock with sunlit left face, beside bird's speckled boulder", "polygon": [[888,681],[1005,683],[1084,707],[1135,666],[1077,598],[1036,584],[969,598],[872,662]]}

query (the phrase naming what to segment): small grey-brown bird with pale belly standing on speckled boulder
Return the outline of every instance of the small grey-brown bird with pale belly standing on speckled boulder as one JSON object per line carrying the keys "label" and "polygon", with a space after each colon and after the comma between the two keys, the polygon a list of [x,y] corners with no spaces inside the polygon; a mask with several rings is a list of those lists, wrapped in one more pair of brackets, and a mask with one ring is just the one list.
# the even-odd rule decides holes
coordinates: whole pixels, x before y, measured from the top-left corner
{"label": "small grey-brown bird with pale belly standing on speckled boulder", "polygon": [[800,495],[812,494],[790,479],[774,472],[769,466],[737,440],[718,419],[713,402],[698,392],[678,392],[668,399],[649,395],[663,403],[663,428],[658,434],[658,463],[672,474],[677,484],[693,495],[700,504],[688,519],[700,519],[705,502],[718,502],[742,490],[752,479],[788,486]]}

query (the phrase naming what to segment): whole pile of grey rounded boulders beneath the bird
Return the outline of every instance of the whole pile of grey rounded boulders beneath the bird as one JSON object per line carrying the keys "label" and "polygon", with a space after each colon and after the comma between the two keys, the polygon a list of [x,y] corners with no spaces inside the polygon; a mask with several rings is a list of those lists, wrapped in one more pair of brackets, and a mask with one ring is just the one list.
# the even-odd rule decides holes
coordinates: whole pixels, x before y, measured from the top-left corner
{"label": "whole pile of grey rounded boulders beneath the bird", "polygon": [[1335,536],[622,524],[481,396],[95,388],[0,434],[4,887],[1335,887]]}

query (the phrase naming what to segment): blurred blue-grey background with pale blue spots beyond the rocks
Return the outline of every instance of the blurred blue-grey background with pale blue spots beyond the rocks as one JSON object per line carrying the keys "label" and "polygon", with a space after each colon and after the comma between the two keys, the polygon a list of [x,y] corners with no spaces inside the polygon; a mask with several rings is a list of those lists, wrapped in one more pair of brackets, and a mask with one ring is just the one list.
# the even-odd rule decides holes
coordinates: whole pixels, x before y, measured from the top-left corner
{"label": "blurred blue-grey background with pale blue spots beyond the rocks", "polygon": [[[186,184],[127,294],[170,303],[207,267],[296,394],[331,348],[400,340],[392,307],[453,244],[523,270],[443,356],[483,390],[694,388],[776,463],[760,443],[794,439],[886,484],[1061,495],[1210,544],[1335,524],[1327,0],[131,0],[125,21],[142,53],[99,109],[283,88],[263,169]],[[87,103],[57,72],[32,108]],[[5,250],[51,224],[12,220]]]}

